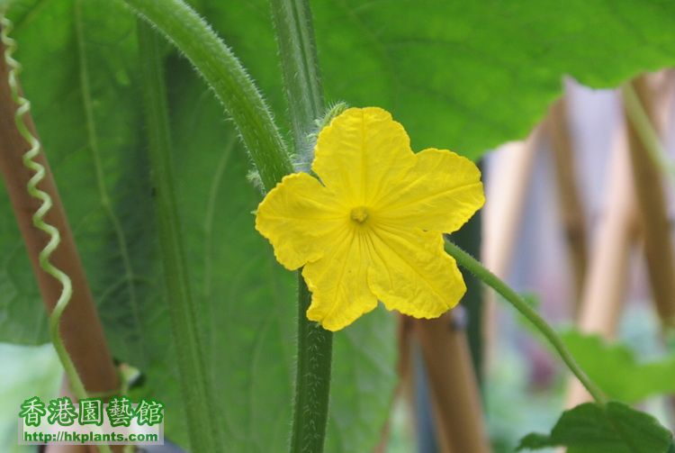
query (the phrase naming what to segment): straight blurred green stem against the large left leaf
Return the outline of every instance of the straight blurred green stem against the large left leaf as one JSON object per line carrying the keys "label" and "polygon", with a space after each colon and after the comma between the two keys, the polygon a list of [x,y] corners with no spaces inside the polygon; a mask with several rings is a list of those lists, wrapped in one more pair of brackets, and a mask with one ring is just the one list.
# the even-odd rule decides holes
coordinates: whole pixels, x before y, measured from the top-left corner
{"label": "straight blurred green stem against the large left leaf", "polygon": [[153,185],[156,188],[157,229],[164,267],[166,302],[173,328],[175,359],[192,451],[221,451],[212,406],[211,385],[203,356],[197,307],[190,291],[184,258],[180,216],[175,203],[166,86],[157,34],[139,21],[139,52],[143,104]]}

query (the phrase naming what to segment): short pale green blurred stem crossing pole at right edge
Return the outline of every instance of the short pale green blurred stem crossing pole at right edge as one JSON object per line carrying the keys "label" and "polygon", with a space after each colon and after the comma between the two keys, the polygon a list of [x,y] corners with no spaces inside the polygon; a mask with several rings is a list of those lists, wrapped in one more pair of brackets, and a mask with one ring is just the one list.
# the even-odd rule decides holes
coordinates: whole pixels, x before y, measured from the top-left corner
{"label": "short pale green blurred stem crossing pole at right edge", "polygon": [[644,149],[647,150],[647,154],[649,154],[654,165],[671,179],[672,184],[675,184],[675,163],[671,161],[663,148],[659,134],[649,115],[644,111],[644,106],[640,102],[640,97],[635,92],[635,88],[629,82],[622,86],[621,92],[624,96],[624,106],[628,119],[637,131],[640,140],[643,141]]}

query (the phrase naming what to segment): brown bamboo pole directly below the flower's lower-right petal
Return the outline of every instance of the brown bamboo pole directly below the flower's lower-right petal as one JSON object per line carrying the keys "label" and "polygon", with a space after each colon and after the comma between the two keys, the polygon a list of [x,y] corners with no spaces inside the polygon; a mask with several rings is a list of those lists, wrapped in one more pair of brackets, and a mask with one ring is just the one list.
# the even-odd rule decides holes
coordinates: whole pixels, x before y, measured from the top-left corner
{"label": "brown bamboo pole directly below the flower's lower-right petal", "polygon": [[425,360],[438,443],[444,453],[487,453],[481,398],[471,352],[455,311],[414,320]]}

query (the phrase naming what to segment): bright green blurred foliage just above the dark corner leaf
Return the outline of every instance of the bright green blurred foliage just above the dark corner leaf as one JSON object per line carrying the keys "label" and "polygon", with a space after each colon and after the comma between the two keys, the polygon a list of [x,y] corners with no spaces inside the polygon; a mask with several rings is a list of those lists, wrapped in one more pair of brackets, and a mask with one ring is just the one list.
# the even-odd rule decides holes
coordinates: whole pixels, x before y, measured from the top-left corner
{"label": "bright green blurred foliage just above the dark corner leaf", "polygon": [[586,374],[611,399],[637,403],[675,391],[675,356],[639,363],[625,345],[610,345],[598,335],[569,330],[561,336]]}

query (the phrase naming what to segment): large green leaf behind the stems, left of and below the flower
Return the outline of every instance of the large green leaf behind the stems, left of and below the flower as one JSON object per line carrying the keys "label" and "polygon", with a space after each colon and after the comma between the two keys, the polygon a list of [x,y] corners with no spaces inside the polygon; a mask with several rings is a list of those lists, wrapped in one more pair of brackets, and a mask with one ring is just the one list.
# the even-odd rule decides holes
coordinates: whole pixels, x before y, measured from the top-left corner
{"label": "large green leaf behind the stems, left of and below the flower", "polygon": [[[184,443],[140,123],[136,20],[106,0],[74,5],[52,0],[13,9],[23,86],[112,352],[146,374],[136,396],[163,400],[167,436]],[[295,276],[253,228],[261,194],[247,182],[250,164],[220,105],[184,59],[168,59],[166,73],[178,204],[222,438],[227,451],[284,451]],[[0,337],[44,341],[43,308],[4,191],[0,210],[0,250],[8,257],[0,285],[11,289],[0,297]],[[336,337],[328,449],[369,450],[395,381],[392,318],[376,311]]]}

